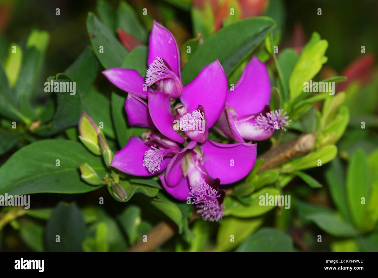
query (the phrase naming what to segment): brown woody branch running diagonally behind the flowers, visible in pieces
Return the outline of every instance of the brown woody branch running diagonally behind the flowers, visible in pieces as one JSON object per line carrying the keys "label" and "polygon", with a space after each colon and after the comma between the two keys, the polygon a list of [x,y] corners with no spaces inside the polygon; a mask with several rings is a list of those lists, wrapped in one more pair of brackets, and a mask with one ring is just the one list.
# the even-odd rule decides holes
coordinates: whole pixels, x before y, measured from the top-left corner
{"label": "brown woody branch running diagonally behind the flowers, visible in pieces", "polygon": [[[274,169],[293,158],[307,154],[314,147],[315,139],[316,137],[313,133],[302,134],[298,138],[271,148],[258,157],[258,159],[264,159],[259,173]],[[197,217],[192,217],[189,222]],[[151,252],[172,238],[177,231],[177,225],[174,223],[161,221],[147,233],[146,242],[143,242],[143,239],[139,240],[127,252]]]}

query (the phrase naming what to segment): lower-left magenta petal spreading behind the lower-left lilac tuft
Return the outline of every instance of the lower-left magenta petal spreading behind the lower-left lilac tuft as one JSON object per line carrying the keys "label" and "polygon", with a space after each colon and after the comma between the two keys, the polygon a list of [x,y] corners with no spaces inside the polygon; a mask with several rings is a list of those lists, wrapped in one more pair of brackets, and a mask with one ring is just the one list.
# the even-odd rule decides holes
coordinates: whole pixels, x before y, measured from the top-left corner
{"label": "lower-left magenta petal spreading behind the lower-left lilac tuft", "polygon": [[152,176],[167,168],[170,162],[170,157],[164,158],[160,165],[160,171],[151,174],[145,166],[143,166],[144,153],[150,149],[150,146],[144,144],[139,137],[130,137],[127,144],[118,152],[115,153],[113,161],[110,166],[129,175],[137,176]]}

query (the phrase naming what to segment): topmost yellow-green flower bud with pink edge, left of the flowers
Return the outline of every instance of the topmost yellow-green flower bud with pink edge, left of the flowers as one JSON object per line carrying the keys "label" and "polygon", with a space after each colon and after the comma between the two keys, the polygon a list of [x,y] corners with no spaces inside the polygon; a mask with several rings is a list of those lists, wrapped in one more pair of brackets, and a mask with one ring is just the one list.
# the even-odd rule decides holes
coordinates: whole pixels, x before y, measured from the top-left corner
{"label": "topmost yellow-green flower bud with pink edge, left of the flowers", "polygon": [[98,141],[98,134],[102,134],[101,129],[96,126],[95,122],[83,111],[79,120],[79,139],[91,152],[101,155]]}

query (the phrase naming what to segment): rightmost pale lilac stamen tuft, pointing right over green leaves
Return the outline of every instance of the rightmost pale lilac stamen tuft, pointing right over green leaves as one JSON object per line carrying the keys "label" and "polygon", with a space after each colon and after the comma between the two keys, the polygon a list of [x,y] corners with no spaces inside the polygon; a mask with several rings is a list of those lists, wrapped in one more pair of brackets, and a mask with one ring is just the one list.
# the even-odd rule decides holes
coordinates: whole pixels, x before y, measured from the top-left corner
{"label": "rightmost pale lilac stamen tuft, pointing right over green leaves", "polygon": [[283,109],[273,110],[266,113],[266,116],[260,113],[260,115],[255,118],[256,126],[262,129],[283,129],[286,131],[285,126],[288,127],[291,120],[288,120],[289,117],[285,116],[286,111],[283,114],[282,112]]}

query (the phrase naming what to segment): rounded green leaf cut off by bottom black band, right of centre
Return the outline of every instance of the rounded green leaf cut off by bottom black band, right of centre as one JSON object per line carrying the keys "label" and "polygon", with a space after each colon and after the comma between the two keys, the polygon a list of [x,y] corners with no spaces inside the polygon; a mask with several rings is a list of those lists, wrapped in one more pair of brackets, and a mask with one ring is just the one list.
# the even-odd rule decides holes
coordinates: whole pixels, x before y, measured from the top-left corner
{"label": "rounded green leaf cut off by bottom black band, right of centre", "polygon": [[280,230],[262,228],[240,244],[235,252],[293,252],[293,240]]}

